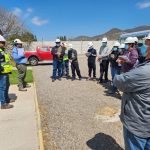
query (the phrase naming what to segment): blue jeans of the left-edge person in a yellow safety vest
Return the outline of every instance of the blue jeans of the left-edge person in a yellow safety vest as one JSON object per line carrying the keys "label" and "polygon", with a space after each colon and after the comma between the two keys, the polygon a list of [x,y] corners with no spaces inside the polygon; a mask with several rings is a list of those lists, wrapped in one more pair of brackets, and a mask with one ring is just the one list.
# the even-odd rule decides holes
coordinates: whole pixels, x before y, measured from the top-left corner
{"label": "blue jeans of the left-edge person in a yellow safety vest", "polygon": [[0,75],[0,102],[1,104],[9,103],[9,75]]}

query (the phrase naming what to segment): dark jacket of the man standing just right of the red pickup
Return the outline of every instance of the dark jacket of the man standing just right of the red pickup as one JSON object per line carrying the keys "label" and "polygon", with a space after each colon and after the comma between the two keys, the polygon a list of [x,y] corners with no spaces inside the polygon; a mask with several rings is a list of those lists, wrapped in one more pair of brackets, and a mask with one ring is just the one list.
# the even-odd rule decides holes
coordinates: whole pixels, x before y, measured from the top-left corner
{"label": "dark jacket of the man standing just right of the red pickup", "polygon": [[[60,56],[57,55],[57,52],[60,52]],[[63,47],[54,46],[51,51],[53,55],[53,60],[63,61],[63,57],[65,55],[65,49]]]}

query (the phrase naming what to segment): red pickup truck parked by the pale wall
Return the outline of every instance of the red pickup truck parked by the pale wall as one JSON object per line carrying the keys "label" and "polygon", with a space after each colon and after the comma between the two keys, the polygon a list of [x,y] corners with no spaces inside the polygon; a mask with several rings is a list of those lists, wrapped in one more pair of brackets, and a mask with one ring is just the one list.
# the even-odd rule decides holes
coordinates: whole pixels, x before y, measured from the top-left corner
{"label": "red pickup truck parked by the pale wall", "polygon": [[35,51],[26,51],[25,57],[32,66],[36,66],[39,61],[53,61],[51,48],[49,46],[38,46]]}

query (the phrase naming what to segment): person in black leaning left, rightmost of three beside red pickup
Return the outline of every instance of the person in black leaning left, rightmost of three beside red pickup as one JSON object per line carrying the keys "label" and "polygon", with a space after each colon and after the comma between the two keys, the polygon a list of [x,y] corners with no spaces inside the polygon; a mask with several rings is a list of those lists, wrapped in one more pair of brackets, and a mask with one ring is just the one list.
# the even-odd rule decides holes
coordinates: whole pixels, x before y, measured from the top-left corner
{"label": "person in black leaning left, rightmost of three beside red pickup", "polygon": [[79,69],[79,63],[77,58],[77,51],[73,49],[73,45],[69,44],[69,50],[68,50],[68,58],[71,63],[71,70],[72,70],[72,81],[76,79],[75,71],[79,77],[79,80],[82,79],[80,69]]}

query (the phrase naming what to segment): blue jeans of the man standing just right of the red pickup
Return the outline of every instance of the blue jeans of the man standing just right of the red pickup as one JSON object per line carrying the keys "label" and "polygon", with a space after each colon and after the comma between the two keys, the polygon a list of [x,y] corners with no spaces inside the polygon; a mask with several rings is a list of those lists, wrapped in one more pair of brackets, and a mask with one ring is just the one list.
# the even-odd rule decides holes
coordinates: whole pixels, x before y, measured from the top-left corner
{"label": "blue jeans of the man standing just right of the red pickup", "polygon": [[52,78],[54,80],[56,80],[57,70],[58,70],[58,77],[61,78],[62,62],[59,60],[53,60],[53,77]]}

